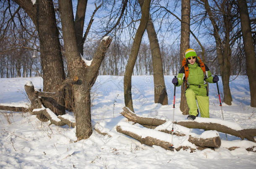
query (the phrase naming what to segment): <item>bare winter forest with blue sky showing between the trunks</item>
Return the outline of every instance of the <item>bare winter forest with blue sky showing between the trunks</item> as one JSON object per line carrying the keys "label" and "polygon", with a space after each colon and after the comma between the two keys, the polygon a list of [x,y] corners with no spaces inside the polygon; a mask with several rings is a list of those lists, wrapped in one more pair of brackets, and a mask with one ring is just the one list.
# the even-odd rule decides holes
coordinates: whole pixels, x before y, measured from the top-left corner
{"label": "bare winter forest with blue sky showing between the trunks", "polygon": [[[43,91],[26,83],[31,107],[17,111],[33,110],[41,121],[60,126],[71,122],[56,122],[47,108],[56,116],[72,111],[78,140],[92,134],[91,88],[97,76],[123,76],[125,106],[134,112],[131,77],[152,75],[154,103],[167,105],[164,76],[177,75],[188,48],[221,77],[227,105],[230,81],[248,76],[256,107],[254,0],[2,0],[0,5],[0,77],[43,78]],[[184,99],[181,95],[180,110],[188,114]]]}

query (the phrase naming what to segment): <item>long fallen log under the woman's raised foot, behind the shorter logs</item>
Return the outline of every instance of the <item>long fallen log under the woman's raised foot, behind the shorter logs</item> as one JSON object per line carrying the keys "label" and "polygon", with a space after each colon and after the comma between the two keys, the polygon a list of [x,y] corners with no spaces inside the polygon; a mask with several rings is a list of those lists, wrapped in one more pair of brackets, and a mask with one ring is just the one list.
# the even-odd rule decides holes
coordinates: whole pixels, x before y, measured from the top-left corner
{"label": "long fallen log under the woman's raised foot, behind the shorter logs", "polygon": [[[124,107],[123,110],[124,111],[121,112],[120,114],[122,114],[125,118],[127,118],[128,121],[133,121],[135,123],[141,124],[148,128],[155,128],[166,122],[166,120],[137,116],[127,107]],[[241,139],[248,139],[249,141],[256,142],[254,140],[254,137],[256,136],[256,129],[235,130],[235,129],[232,129],[231,127],[214,123],[214,119],[209,119],[209,118],[203,118],[203,119],[205,121],[213,121],[213,122],[204,123],[204,122],[201,122],[202,120],[200,122],[197,122],[197,119],[196,119],[195,121],[178,121],[178,122],[175,122],[175,124],[178,124],[180,126],[184,126],[187,128],[191,128],[191,129],[216,130],[222,133],[231,134],[233,136],[240,137]],[[218,119],[218,121],[223,121],[223,120]],[[225,123],[226,121],[223,121],[223,122]]]}

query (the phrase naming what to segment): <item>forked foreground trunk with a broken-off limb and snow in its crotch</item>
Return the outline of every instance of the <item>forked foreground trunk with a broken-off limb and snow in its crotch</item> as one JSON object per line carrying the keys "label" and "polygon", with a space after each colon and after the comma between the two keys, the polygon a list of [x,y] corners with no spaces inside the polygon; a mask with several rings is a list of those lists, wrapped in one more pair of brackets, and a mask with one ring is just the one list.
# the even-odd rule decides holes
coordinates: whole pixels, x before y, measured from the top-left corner
{"label": "forked foreground trunk with a broken-off limb and snow in its crotch", "polygon": [[59,0],[59,9],[63,28],[65,53],[68,61],[68,71],[71,76],[78,76],[78,81],[73,85],[76,137],[78,140],[87,139],[92,134],[90,91],[96,81],[99,67],[112,39],[104,38],[99,43],[96,53],[93,56],[91,66],[87,66],[82,60],[78,50],[72,1]]}

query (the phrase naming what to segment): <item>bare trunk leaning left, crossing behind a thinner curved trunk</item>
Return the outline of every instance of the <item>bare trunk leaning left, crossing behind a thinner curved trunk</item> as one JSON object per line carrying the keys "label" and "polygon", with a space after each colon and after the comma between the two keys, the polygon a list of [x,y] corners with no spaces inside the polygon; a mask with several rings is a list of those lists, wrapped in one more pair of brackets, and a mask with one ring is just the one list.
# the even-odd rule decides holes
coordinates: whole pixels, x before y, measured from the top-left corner
{"label": "bare trunk leaning left, crossing behind a thinner curved trunk", "polygon": [[[144,0],[138,0],[142,8]],[[152,65],[153,65],[153,76],[154,76],[154,102],[161,103],[162,105],[168,104],[167,92],[165,88],[165,78],[163,71],[163,63],[161,57],[161,51],[157,39],[157,33],[154,28],[152,18],[149,14],[148,24],[146,31],[149,37]]]}

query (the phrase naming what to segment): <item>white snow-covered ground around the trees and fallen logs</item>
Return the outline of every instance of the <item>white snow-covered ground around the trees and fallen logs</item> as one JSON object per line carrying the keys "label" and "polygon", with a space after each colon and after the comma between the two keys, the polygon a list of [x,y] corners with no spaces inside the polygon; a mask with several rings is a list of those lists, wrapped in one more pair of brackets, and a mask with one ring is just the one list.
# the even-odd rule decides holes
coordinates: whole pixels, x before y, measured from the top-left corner
{"label": "white snow-covered ground around the trees and fallen logs", "polygon": [[[152,76],[132,77],[133,107],[140,116],[172,119],[173,76],[165,76],[168,104],[154,103]],[[234,77],[231,77],[231,79]],[[1,78],[0,105],[29,106],[24,85],[32,81],[42,88],[42,78]],[[222,119],[216,84],[209,84],[210,117]],[[219,82],[221,93],[222,83]],[[248,78],[238,76],[230,82],[232,106],[222,103],[224,118],[243,129],[256,128],[256,108],[250,106]],[[115,102],[116,101],[116,102]],[[114,106],[115,103],[115,106]],[[88,168],[88,169],[156,169],[156,168],[256,168],[256,153],[243,147],[251,141],[219,133],[222,146],[190,153],[190,150],[167,151],[159,146],[146,146],[116,131],[126,119],[119,113],[124,107],[123,76],[99,76],[92,90],[91,117],[93,126],[111,135],[96,131],[89,139],[76,141],[76,130],[37,120],[29,113],[0,111],[0,168]],[[180,110],[180,87],[176,88],[175,121],[185,120]],[[126,123],[128,124],[128,123]],[[136,127],[140,127],[136,125]],[[193,129],[195,134],[203,130]],[[230,151],[225,147],[240,146]],[[174,141],[175,146],[175,141]]]}

